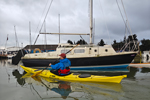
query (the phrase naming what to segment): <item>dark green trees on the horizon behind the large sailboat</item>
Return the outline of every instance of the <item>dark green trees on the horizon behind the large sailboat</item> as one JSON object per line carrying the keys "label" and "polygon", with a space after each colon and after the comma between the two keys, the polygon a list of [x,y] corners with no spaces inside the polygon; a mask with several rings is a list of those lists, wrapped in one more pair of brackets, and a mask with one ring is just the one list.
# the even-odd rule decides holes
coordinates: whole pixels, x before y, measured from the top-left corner
{"label": "dark green trees on the horizon behind the large sailboat", "polygon": [[[134,47],[134,41],[138,41],[137,35],[129,35],[128,37],[124,37],[124,39],[120,42],[117,42],[116,40],[113,41],[112,47],[115,49],[115,51],[119,51],[125,44],[128,44],[128,47],[125,49],[125,51],[132,50]],[[129,43],[130,42],[130,43]],[[149,39],[143,39],[139,41],[139,49],[140,51],[149,51],[150,50],[150,40]],[[85,40],[80,39],[77,42],[74,41],[74,43],[71,40],[68,40],[67,43],[70,44],[78,44],[80,45],[86,45],[88,44]],[[104,46],[106,43],[104,42],[103,39],[101,39],[98,43],[98,46]],[[137,44],[136,44],[137,45]],[[138,49],[138,48],[137,48]],[[137,50],[135,49],[135,50]]]}

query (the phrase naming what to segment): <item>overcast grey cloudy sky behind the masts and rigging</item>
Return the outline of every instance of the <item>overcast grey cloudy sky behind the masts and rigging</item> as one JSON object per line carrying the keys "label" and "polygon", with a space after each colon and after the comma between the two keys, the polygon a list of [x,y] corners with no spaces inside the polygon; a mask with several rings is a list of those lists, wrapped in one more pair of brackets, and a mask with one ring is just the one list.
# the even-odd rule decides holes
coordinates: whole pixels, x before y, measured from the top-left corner
{"label": "overcast grey cloudy sky behind the masts and rigging", "polygon": [[[116,0],[93,0],[95,19],[94,43],[101,39],[111,44],[123,40],[125,24],[119,12]],[[19,45],[28,45],[29,22],[31,22],[32,44],[41,29],[51,0],[0,0],[0,47],[16,46],[15,31]],[[139,40],[150,39],[150,0],[123,0],[132,34]],[[126,16],[118,0],[124,19]],[[61,33],[89,33],[89,0],[53,0],[46,17],[46,32],[59,32],[58,14],[60,14]],[[44,27],[42,32],[44,32]],[[129,32],[127,33],[129,35]],[[44,44],[45,35],[40,35],[36,44]],[[82,36],[89,43],[89,36]],[[58,35],[46,35],[48,44],[58,44]],[[61,43],[67,40],[77,41],[80,36],[61,36]]]}

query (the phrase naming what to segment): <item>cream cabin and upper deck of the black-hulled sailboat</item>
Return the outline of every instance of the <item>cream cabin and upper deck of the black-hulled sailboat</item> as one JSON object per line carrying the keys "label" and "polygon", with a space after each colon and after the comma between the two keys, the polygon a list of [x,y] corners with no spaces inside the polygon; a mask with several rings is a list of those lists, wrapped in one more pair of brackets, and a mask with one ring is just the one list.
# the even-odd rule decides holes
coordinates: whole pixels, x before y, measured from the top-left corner
{"label": "cream cabin and upper deck of the black-hulled sailboat", "polygon": [[[26,54],[24,58],[59,58],[61,53],[66,53],[74,46],[69,43],[58,44],[56,51]],[[82,57],[99,57],[107,55],[115,55],[116,52],[110,45],[97,46],[97,45],[78,45],[67,54],[67,58],[82,58]]]}

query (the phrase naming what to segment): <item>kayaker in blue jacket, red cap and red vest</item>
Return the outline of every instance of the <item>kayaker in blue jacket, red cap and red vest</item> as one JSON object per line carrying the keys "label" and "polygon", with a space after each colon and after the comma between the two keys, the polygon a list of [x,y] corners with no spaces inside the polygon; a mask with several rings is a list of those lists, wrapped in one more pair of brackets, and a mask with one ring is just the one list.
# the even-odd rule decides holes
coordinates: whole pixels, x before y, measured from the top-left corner
{"label": "kayaker in blue jacket, red cap and red vest", "polygon": [[49,64],[49,66],[52,67],[51,72],[56,75],[70,74],[70,68],[69,68],[69,66],[71,66],[70,60],[66,58],[66,54],[64,53],[60,54],[59,56],[60,56],[59,63],[55,65],[52,65],[51,63]]}

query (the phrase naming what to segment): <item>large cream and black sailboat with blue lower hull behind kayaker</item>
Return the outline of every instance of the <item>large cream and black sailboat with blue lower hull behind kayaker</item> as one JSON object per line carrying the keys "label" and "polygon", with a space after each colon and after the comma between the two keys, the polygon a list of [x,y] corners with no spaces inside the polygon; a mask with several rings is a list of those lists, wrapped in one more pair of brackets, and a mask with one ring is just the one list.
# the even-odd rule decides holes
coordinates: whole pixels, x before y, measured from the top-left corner
{"label": "large cream and black sailboat with blue lower hull behind kayaker", "polygon": [[[67,54],[71,61],[71,70],[99,70],[104,68],[126,68],[137,55],[138,51],[116,52],[111,45],[97,46],[92,43],[93,33],[93,0],[90,0],[90,44],[79,45]],[[41,34],[67,34],[68,33],[41,33]],[[72,35],[70,33],[70,35]],[[81,34],[76,34],[81,35]],[[85,34],[82,34],[85,35]],[[56,51],[26,54],[22,62],[28,67],[48,66],[66,53],[75,45],[58,44]]]}

